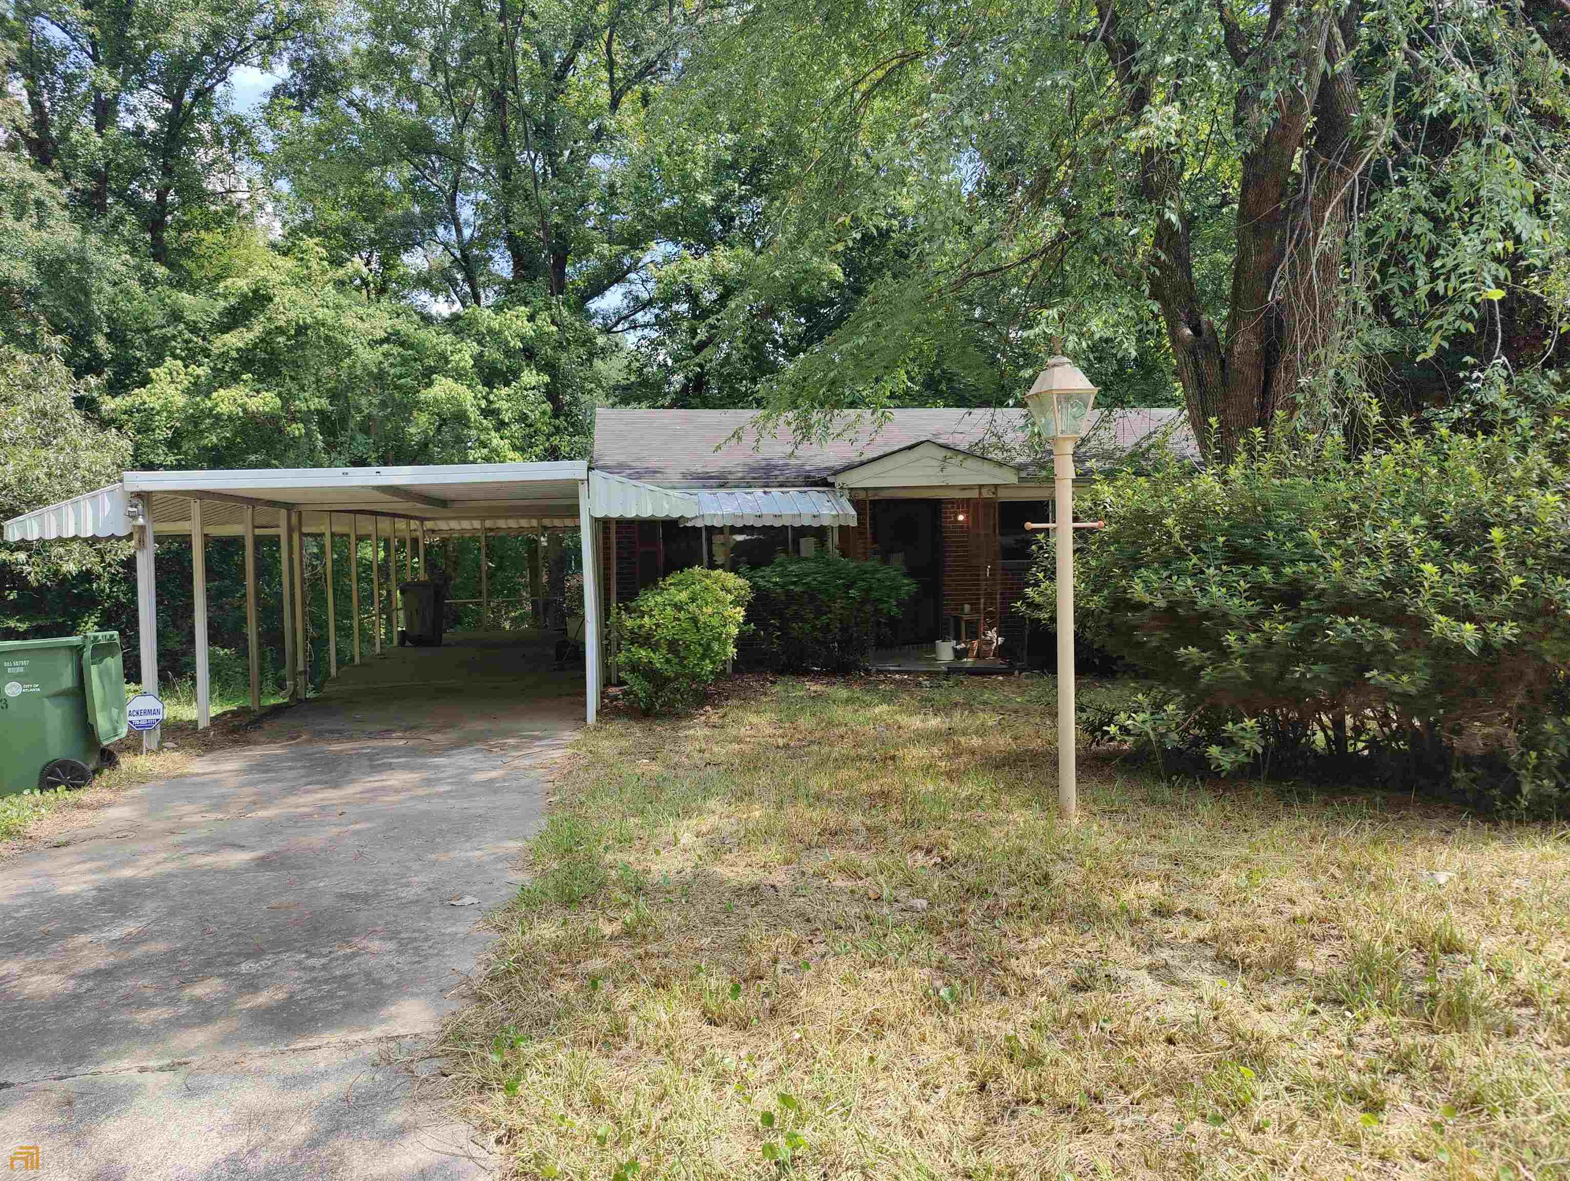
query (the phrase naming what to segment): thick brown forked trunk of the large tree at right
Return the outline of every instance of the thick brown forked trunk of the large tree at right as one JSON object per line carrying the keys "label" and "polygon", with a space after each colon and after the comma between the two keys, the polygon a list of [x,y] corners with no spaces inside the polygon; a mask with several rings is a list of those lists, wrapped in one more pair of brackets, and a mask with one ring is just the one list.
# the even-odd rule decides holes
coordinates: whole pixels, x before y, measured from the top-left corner
{"label": "thick brown forked trunk of the large tree at right", "polygon": [[[1129,113],[1149,105],[1140,46],[1123,35],[1115,0],[1099,0],[1101,41],[1127,96]],[[1254,429],[1269,432],[1278,410],[1292,413],[1306,367],[1333,330],[1345,247],[1345,151],[1355,115],[1355,80],[1334,75],[1345,52],[1345,19],[1313,2],[1273,6],[1270,25],[1250,46],[1225,0],[1218,3],[1239,83],[1234,122],[1251,140],[1237,184],[1237,253],[1225,336],[1204,314],[1193,278],[1190,221],[1178,149],[1146,148],[1141,196],[1157,209],[1148,276],[1160,306],[1188,422],[1210,459],[1236,454]],[[1334,42],[1334,49],[1331,49]],[[1295,168],[1311,118],[1309,177]],[[1320,159],[1322,152],[1322,159]]]}

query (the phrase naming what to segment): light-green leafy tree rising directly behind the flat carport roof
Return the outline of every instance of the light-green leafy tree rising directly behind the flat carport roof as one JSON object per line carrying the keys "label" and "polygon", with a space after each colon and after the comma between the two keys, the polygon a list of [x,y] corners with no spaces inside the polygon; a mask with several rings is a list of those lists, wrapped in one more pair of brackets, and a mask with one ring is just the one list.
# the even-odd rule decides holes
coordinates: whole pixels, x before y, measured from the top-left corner
{"label": "light-green leafy tree rising directly behind the flat carport roof", "polygon": [[548,377],[528,360],[554,347],[548,314],[469,308],[436,324],[367,302],[358,265],[312,243],[242,258],[210,295],[170,302],[165,358],[113,402],[140,463],[510,462],[578,446],[556,433]]}

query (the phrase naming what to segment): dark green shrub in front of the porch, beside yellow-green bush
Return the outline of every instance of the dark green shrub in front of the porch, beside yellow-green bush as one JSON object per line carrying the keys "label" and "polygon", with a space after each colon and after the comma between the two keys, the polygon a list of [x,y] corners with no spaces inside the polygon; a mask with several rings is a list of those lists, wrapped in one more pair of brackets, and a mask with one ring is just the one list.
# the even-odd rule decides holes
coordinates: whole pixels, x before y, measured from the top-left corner
{"label": "dark green shrub in front of the porch, beside yellow-green bush", "polygon": [[758,658],[776,672],[865,667],[889,620],[915,594],[904,570],[832,551],[780,554],[741,576],[752,586],[747,623]]}

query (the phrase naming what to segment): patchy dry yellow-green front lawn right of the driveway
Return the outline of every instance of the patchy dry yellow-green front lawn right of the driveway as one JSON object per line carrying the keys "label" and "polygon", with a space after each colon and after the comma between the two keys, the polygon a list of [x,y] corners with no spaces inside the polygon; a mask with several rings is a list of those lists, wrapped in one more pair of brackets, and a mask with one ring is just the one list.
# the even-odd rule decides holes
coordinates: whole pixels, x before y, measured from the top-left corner
{"label": "patchy dry yellow-green front lawn right of the driveway", "polygon": [[782,680],[586,733],[447,1029],[510,1173],[1567,1175],[1562,829],[1096,754],[1069,831],[1052,702]]}

